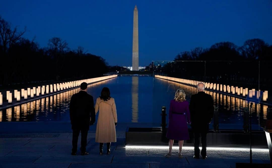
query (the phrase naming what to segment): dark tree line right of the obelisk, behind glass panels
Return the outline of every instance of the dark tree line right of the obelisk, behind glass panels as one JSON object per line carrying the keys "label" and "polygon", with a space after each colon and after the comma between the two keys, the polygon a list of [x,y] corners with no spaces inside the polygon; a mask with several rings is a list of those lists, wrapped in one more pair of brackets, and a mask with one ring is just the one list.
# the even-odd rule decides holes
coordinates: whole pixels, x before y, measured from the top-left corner
{"label": "dark tree line right of the obelisk, behind glass panels", "polygon": [[155,66],[154,71],[171,77],[270,89],[271,65],[272,45],[249,39],[240,47],[220,42],[208,49],[196,47],[181,52],[164,66]]}

